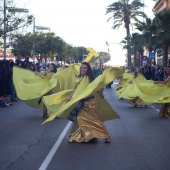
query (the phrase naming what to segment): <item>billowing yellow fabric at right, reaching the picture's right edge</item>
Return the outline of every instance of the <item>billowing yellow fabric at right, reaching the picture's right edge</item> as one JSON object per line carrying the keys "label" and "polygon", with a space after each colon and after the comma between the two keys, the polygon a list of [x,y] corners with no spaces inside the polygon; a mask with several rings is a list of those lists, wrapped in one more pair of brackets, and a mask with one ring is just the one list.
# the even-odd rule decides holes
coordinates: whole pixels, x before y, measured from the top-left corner
{"label": "billowing yellow fabric at right, reaching the picture's right edge", "polygon": [[152,80],[146,80],[141,74],[118,91],[119,97],[127,99],[139,97],[147,104],[170,103],[170,82],[155,84]]}

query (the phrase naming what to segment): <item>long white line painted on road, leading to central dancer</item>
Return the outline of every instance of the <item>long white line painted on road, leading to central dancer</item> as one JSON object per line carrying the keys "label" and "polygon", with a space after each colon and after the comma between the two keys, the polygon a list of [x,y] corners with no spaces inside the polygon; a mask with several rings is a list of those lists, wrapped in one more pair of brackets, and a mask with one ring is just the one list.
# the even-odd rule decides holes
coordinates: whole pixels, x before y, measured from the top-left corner
{"label": "long white line painted on road, leading to central dancer", "polygon": [[50,164],[54,154],[56,153],[57,149],[59,148],[59,146],[60,146],[64,136],[66,135],[68,129],[70,128],[71,124],[72,124],[72,122],[70,122],[70,121],[67,123],[67,126],[62,131],[61,135],[59,136],[58,140],[56,141],[56,143],[52,147],[51,151],[49,152],[49,154],[45,158],[44,162],[41,164],[39,170],[46,170],[47,169],[48,165]]}

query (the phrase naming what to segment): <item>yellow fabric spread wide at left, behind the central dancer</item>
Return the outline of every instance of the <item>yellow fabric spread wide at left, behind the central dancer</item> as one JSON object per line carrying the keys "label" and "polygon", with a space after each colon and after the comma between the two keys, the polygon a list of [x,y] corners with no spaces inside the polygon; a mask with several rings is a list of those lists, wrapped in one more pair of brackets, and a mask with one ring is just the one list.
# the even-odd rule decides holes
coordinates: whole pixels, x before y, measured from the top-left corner
{"label": "yellow fabric spread wide at left, behind the central dancer", "polygon": [[17,97],[34,108],[42,108],[39,99],[50,90],[53,92],[73,89],[75,75],[79,74],[80,64],[72,64],[65,69],[60,69],[52,77],[39,76],[30,70],[20,67],[13,68],[13,82]]}

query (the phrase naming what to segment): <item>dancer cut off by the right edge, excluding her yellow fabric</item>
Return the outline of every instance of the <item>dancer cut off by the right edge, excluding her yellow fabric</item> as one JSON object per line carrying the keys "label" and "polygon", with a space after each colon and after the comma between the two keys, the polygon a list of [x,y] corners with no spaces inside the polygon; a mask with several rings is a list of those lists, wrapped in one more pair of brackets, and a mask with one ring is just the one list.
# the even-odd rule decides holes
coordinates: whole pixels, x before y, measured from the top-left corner
{"label": "dancer cut off by the right edge, excluding her yellow fabric", "polygon": [[[168,86],[170,85],[170,66],[167,66],[165,69],[165,77],[166,79],[164,81],[156,81],[155,83],[160,83],[160,84],[167,84]],[[170,103],[164,103],[161,106],[161,109],[159,111],[159,117],[164,117],[164,118],[170,118]]]}

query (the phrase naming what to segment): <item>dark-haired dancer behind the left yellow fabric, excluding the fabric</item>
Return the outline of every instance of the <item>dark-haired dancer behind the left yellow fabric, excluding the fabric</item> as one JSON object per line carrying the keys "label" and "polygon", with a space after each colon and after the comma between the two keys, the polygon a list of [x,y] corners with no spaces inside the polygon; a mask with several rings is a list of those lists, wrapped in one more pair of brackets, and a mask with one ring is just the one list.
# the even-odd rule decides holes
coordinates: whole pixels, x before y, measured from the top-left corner
{"label": "dark-haired dancer behind the left yellow fabric, excluding the fabric", "polygon": [[[37,72],[35,71],[34,73],[39,75],[40,77],[42,77],[43,79],[48,79],[50,80],[51,77],[57,72],[57,68],[56,65],[54,63],[51,63],[49,65],[49,69],[47,71],[41,71],[41,72]],[[53,88],[51,89],[48,93],[46,93],[45,95],[50,95],[56,93],[56,90]],[[41,99],[39,101],[39,103],[41,102]],[[48,118],[50,116],[51,112],[47,109],[47,107],[43,104],[43,118]]]}

